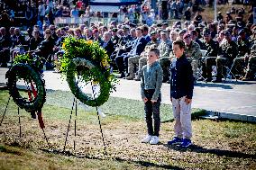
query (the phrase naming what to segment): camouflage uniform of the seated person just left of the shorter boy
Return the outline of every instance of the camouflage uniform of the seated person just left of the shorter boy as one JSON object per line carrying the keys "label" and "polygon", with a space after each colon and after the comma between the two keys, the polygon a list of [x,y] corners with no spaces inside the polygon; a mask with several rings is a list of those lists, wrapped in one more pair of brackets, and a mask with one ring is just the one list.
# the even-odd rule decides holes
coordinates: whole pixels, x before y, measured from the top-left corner
{"label": "camouflage uniform of the seated person just left of the shorter boy", "polygon": [[[127,79],[133,79],[132,77],[134,76],[136,65],[137,66],[139,65],[139,72],[140,72],[142,67],[147,64],[147,56],[148,56],[150,49],[157,48],[158,45],[159,45],[158,40],[157,41],[151,40],[147,43],[144,51],[142,52],[142,54],[140,56],[134,56],[134,57],[128,58],[128,73],[130,73],[131,76],[129,76]],[[141,61],[141,65],[140,65],[140,61]],[[140,77],[137,76],[136,79],[140,79]]]}

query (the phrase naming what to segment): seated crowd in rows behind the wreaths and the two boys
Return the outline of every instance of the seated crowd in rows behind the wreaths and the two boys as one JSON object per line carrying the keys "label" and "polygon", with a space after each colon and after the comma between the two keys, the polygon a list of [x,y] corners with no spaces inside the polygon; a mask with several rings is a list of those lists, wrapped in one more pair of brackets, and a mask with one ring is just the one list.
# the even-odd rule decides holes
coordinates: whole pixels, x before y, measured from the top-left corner
{"label": "seated crowd in rows behind the wreaths and the two boys", "polygon": [[[255,78],[256,25],[233,20],[227,23],[174,22],[172,25],[163,22],[151,26],[111,22],[108,27],[91,23],[74,29],[69,26],[56,28],[50,24],[44,25],[42,31],[34,25],[25,37],[19,28],[6,30],[1,27],[1,67],[7,67],[7,63],[23,50],[41,56],[47,68],[57,67],[54,60],[61,58],[61,45],[66,37],[97,41],[111,58],[112,67],[118,69],[119,77],[127,80],[140,80],[139,73],[146,65],[149,50],[158,48],[163,82],[169,81],[169,64],[174,58],[172,42],[175,40],[183,40],[186,44],[185,54],[193,68],[195,82],[221,82],[227,74],[242,80]],[[213,67],[216,67],[214,80]],[[198,70],[201,76],[198,76]]]}

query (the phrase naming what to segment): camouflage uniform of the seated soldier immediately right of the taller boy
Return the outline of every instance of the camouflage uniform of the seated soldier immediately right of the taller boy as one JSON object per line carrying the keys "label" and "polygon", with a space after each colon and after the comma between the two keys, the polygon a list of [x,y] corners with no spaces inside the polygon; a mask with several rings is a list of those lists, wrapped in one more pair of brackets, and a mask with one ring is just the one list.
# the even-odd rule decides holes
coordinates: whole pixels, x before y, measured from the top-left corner
{"label": "camouflage uniform of the seated soldier immediately right of the taller boy", "polygon": [[189,46],[186,45],[185,47],[185,55],[190,61],[192,70],[193,70],[193,76],[197,77],[197,67],[199,63],[199,58],[202,57],[202,52],[200,50],[200,46],[197,42],[191,40],[191,44]]}

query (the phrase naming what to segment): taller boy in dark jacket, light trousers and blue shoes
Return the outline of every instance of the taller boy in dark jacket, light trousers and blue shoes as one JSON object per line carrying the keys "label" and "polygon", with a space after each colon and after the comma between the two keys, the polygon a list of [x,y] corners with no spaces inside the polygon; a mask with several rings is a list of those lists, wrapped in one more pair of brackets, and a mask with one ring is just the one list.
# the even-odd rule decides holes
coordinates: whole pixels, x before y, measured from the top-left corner
{"label": "taller boy in dark jacket, light trousers and blue shoes", "polygon": [[174,139],[168,145],[180,144],[180,147],[189,147],[192,137],[191,103],[193,96],[193,72],[185,55],[185,44],[182,40],[176,40],[172,44],[172,50],[176,58],[170,64],[170,101],[175,119]]}

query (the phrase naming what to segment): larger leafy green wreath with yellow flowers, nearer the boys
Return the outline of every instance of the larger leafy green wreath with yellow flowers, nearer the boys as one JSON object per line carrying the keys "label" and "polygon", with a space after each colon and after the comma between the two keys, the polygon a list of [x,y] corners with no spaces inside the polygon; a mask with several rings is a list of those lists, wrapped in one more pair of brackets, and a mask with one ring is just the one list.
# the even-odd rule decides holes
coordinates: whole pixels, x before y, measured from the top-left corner
{"label": "larger leafy green wreath with yellow flowers, nearer the boys", "polygon": [[[116,78],[110,71],[109,57],[105,49],[91,40],[66,38],[62,44],[65,53],[59,59],[60,71],[67,76],[72,94],[89,106],[105,103],[115,90]],[[78,80],[76,80],[78,76]],[[90,97],[78,87],[78,81],[100,85],[100,94]]]}

